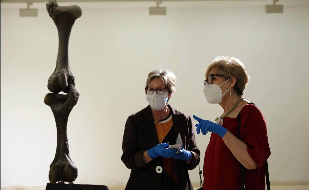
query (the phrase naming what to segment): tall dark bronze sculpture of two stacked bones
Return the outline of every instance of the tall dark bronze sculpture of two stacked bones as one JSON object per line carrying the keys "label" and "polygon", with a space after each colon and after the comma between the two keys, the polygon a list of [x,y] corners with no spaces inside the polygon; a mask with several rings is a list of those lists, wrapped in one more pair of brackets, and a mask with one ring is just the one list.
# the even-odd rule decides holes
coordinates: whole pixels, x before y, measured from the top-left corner
{"label": "tall dark bronze sculpture of two stacked bones", "polygon": [[[77,168],[70,158],[67,138],[67,122],[72,108],[76,105],[79,94],[75,89],[74,76],[68,61],[70,33],[75,20],[82,15],[79,6],[58,6],[56,0],[46,4],[47,12],[57,26],[59,46],[56,68],[48,80],[49,93],[44,103],[51,107],[57,127],[57,149],[55,158],[49,167],[49,181],[52,183],[73,183],[77,178]],[[58,94],[65,92],[66,95]]]}

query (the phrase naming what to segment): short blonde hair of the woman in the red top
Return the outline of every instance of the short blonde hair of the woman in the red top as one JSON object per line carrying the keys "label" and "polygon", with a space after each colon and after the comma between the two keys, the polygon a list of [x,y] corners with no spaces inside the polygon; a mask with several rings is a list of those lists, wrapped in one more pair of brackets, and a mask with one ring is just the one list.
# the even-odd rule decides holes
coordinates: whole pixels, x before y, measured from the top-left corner
{"label": "short blonde hair of the woman in the red top", "polygon": [[216,57],[213,63],[207,67],[205,79],[207,79],[210,69],[214,67],[219,69],[220,74],[224,75],[226,80],[235,77],[237,81],[234,90],[238,95],[243,95],[243,91],[249,83],[250,76],[245,70],[245,65],[239,59],[228,56]]}

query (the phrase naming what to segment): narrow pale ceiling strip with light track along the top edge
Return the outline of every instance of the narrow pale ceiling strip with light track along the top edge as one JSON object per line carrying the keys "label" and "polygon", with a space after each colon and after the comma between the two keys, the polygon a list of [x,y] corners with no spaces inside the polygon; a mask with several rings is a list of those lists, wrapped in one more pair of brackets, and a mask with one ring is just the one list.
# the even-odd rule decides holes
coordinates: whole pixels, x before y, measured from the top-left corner
{"label": "narrow pale ceiling strip with light track along the top edge", "polygon": [[[14,0],[11,0],[14,1]],[[80,0],[79,0],[80,1]],[[87,0],[85,0],[87,1]],[[47,2],[47,0],[46,0]],[[191,8],[212,8],[212,7],[263,7],[272,4],[272,0],[204,0],[204,1],[164,1],[160,6],[166,6],[167,9],[191,9]],[[145,9],[149,6],[156,6],[155,1],[134,1],[122,2],[119,0],[109,2],[61,2],[59,6],[78,5],[82,9]],[[279,0],[276,4],[283,4],[284,7],[308,6],[309,0]],[[7,3],[1,1],[1,9],[19,9],[27,8],[26,3]],[[46,9],[46,3],[33,3],[30,8]],[[309,11],[309,9],[308,9]]]}

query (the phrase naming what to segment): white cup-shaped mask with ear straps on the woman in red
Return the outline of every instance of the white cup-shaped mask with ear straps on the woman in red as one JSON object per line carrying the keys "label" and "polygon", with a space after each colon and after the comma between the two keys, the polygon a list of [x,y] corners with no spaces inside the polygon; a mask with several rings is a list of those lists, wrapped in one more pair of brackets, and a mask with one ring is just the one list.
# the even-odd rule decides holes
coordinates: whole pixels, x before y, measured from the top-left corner
{"label": "white cup-shaped mask with ear straps on the woman in red", "polygon": [[[231,78],[230,78],[231,79]],[[226,83],[227,79],[224,83]],[[231,88],[229,88],[224,94],[222,94],[221,86],[224,84],[222,83],[220,86],[216,84],[206,84],[204,88],[204,94],[207,99],[208,103],[217,103],[219,104],[222,101],[222,96],[226,94]]]}

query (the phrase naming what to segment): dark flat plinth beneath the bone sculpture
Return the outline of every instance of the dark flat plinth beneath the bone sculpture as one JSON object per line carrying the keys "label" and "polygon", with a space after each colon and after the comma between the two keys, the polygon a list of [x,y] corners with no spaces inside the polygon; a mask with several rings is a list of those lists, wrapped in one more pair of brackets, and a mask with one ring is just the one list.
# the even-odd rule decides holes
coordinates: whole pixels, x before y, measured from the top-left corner
{"label": "dark flat plinth beneath the bone sculpture", "polygon": [[47,183],[45,190],[109,190],[105,185],[54,184]]}

